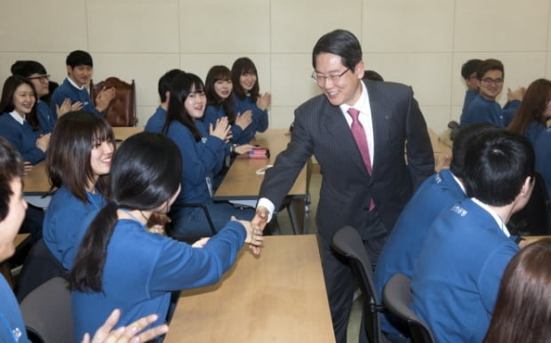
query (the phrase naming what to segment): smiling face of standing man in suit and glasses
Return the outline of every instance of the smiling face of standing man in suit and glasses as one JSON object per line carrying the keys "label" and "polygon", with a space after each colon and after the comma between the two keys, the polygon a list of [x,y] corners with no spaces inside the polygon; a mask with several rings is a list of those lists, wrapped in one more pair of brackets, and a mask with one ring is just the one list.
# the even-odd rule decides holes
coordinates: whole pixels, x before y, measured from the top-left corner
{"label": "smiling face of standing man in suit and glasses", "polygon": [[352,70],[342,65],[340,56],[322,52],[315,56],[314,76],[331,105],[353,106],[362,95],[363,61]]}

